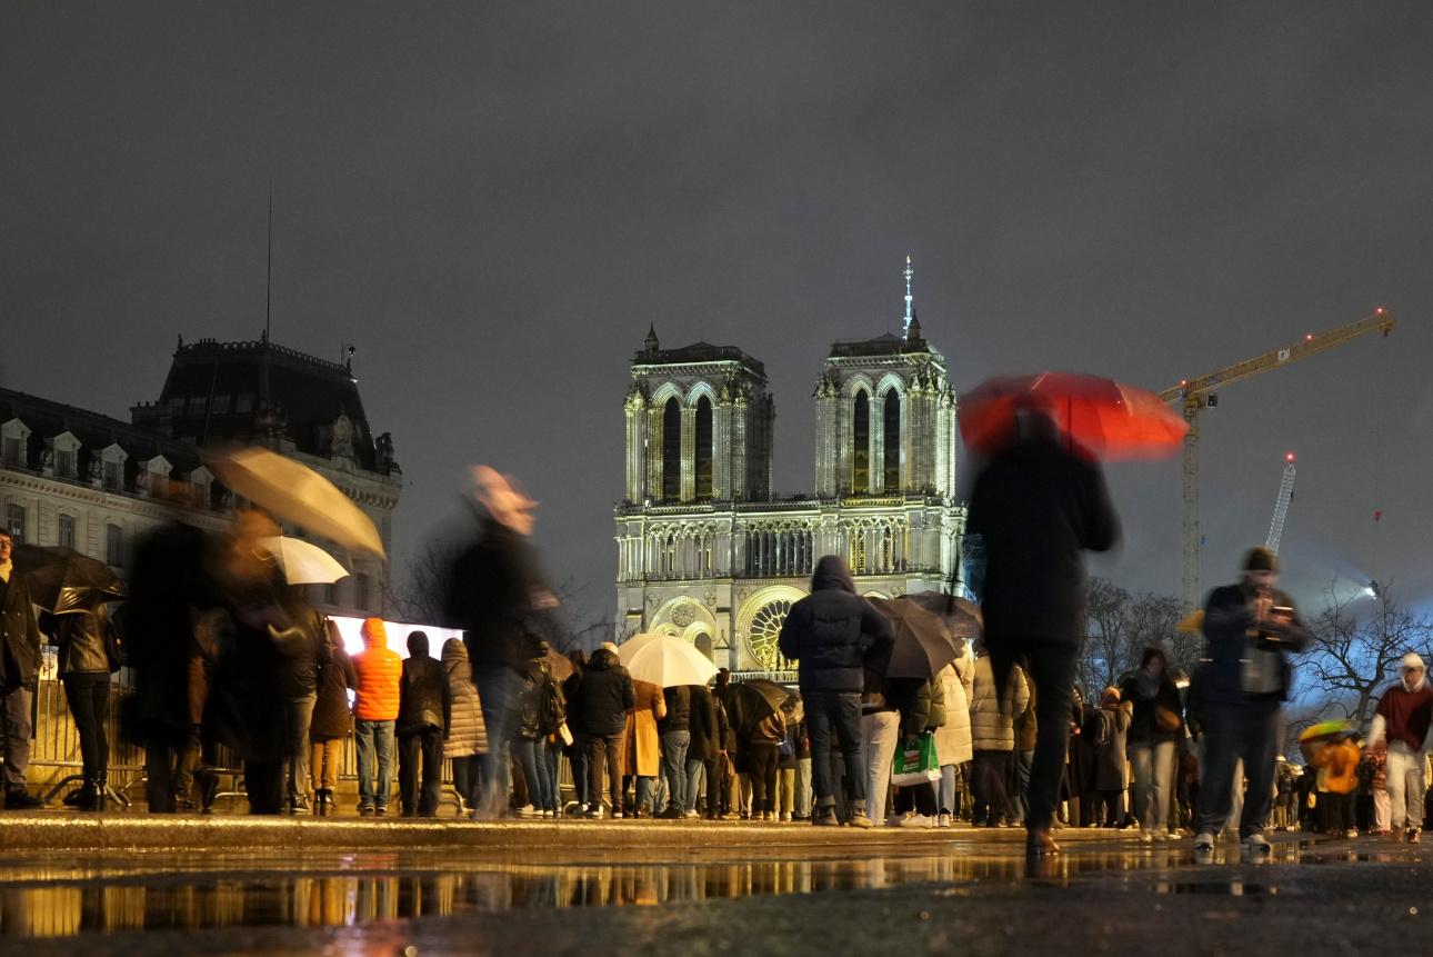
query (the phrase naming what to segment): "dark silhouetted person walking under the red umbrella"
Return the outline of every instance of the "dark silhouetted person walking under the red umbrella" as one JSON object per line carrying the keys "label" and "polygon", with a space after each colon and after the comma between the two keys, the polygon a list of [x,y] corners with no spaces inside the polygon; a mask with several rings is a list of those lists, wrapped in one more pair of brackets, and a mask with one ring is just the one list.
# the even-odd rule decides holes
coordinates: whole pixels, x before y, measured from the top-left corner
{"label": "dark silhouetted person walking under the red umbrella", "polygon": [[1069,748],[1070,687],[1083,643],[1085,557],[1119,538],[1099,466],[1058,439],[1040,410],[1020,415],[1020,438],[976,478],[969,535],[984,544],[986,646],[1003,687],[1023,660],[1035,682],[1036,742],[1026,795],[1027,849],[1059,851],[1050,838]]}

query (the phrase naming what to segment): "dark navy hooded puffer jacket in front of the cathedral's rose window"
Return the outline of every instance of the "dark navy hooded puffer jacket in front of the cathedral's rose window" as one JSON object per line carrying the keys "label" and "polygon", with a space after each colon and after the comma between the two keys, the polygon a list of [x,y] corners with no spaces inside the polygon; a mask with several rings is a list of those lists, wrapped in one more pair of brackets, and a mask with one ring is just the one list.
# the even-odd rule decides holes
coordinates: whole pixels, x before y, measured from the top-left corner
{"label": "dark navy hooded puffer jacket in front of the cathedral's rose window", "polygon": [[891,624],[866,598],[845,562],[824,555],[811,575],[811,594],[791,607],[781,626],[781,654],[800,663],[802,692],[853,692],[864,684],[870,659],[884,673]]}

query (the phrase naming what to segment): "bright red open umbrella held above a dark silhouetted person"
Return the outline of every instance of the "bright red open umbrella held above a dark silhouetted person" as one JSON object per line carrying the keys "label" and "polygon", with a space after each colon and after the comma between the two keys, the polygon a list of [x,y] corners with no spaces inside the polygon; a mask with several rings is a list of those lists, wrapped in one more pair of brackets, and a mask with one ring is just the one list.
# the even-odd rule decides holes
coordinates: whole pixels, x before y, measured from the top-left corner
{"label": "bright red open umbrella held above a dark silhouetted person", "polygon": [[960,400],[966,446],[992,455],[1015,440],[1015,418],[1045,409],[1060,432],[1102,459],[1149,459],[1174,453],[1189,430],[1159,396],[1098,376],[1042,372],[989,379]]}

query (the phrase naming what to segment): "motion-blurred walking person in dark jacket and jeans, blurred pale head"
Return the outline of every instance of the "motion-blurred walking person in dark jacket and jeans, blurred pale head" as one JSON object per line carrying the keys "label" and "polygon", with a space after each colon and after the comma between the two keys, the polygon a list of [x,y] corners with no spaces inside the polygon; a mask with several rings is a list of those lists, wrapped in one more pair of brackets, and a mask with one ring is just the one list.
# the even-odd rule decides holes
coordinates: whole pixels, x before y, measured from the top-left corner
{"label": "motion-blurred walking person in dark jacket and jeans, blurred pale head", "polygon": [[507,811],[512,739],[533,657],[533,616],[557,601],[527,541],[537,502],[486,465],[473,468],[473,495],[484,509],[480,538],[454,560],[444,604],[449,623],[463,628],[487,727],[483,803],[473,815],[499,818]]}

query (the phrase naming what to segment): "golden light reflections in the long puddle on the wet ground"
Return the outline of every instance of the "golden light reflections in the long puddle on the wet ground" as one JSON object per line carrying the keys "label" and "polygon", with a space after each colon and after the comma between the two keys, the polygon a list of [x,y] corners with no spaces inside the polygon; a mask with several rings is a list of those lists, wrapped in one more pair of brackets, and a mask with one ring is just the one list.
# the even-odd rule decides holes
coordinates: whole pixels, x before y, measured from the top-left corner
{"label": "golden light reflections in the long puddle on the wet ground", "polygon": [[[1371,859],[1376,852],[1285,842],[1271,864]],[[464,851],[107,855],[16,854],[0,875],[0,934],[67,937],[156,928],[360,927],[517,908],[633,907],[772,894],[823,894],[936,884],[950,897],[992,881],[1068,884],[1128,874],[1159,894],[1273,895],[1274,880],[1199,880],[1182,845],[1151,851],[1126,841],[1086,842],[1029,868],[1019,845],[952,839],[900,847],[692,849],[685,862],[615,851],[596,861],[514,859]],[[662,855],[662,851],[649,851]],[[682,855],[682,851],[676,851]],[[725,858],[724,858],[725,855]],[[665,857],[674,857],[668,849]],[[1219,864],[1237,864],[1237,845]],[[1271,878],[1275,871],[1270,871]]]}

